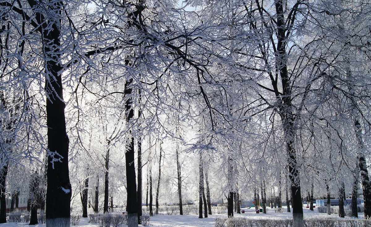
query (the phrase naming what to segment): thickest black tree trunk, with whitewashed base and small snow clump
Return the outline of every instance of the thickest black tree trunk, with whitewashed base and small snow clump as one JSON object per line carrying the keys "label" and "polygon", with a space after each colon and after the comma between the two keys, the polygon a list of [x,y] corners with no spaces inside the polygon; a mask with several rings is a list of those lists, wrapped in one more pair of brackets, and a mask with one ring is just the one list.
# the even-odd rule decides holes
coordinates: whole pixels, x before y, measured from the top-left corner
{"label": "thickest black tree trunk, with whitewashed base and small snow clump", "polygon": [[[48,5],[51,14],[62,13],[63,2],[54,1]],[[35,3],[34,6],[39,6]],[[43,18],[43,15],[40,15]],[[43,20],[43,19],[42,19]],[[59,20],[57,17],[55,20]],[[62,66],[60,60],[61,33],[55,20],[43,23],[43,52],[46,78],[46,125],[47,144],[50,155],[47,162],[46,226],[70,226],[70,201],[72,188],[68,170],[68,144],[66,133],[65,102],[63,101]],[[56,155],[58,154],[58,155]],[[60,161],[55,161],[60,158]],[[56,205],[58,204],[58,205]]]}

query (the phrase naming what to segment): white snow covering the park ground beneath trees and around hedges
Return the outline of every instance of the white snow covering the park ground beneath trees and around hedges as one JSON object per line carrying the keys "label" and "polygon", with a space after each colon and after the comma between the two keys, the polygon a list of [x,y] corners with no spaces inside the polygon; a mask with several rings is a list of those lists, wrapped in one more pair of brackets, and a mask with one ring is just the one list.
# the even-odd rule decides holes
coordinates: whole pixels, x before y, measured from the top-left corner
{"label": "white snow covering the park ground beneath trees and around hedges", "polygon": [[[285,208],[286,209],[286,208]],[[248,209],[247,209],[248,210]],[[252,210],[252,209],[251,209]],[[303,208],[304,218],[311,217],[326,217],[327,214],[318,213],[317,209],[314,211],[308,208]],[[208,218],[198,218],[198,215],[160,215],[151,217],[150,226],[152,227],[214,227],[215,217],[227,217],[227,214],[213,214]],[[248,211],[244,214],[234,214],[234,217],[253,218],[253,219],[283,219],[292,218],[292,214],[288,212],[275,213],[273,209],[267,211],[267,214],[256,214],[255,211]],[[339,217],[336,214],[327,217]],[[358,213],[358,217],[363,217],[362,213]],[[125,225],[126,226],[126,225]],[[124,226],[124,227],[125,227]],[[0,227],[29,227],[28,223],[4,223],[0,224]],[[45,227],[45,224],[37,224],[35,227]],[[99,227],[98,224],[88,223],[88,218],[82,218],[79,227]]]}

